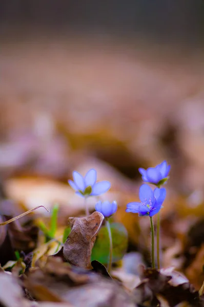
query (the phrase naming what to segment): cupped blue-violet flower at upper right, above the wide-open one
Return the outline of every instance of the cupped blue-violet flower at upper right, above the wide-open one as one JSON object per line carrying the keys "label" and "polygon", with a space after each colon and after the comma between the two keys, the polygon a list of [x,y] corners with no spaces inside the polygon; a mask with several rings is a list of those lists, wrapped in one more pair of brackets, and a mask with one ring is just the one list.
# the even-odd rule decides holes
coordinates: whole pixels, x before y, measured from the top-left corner
{"label": "cupped blue-violet flower at upper right, above the wide-open one", "polygon": [[167,165],[167,161],[163,161],[161,164],[149,167],[147,170],[140,167],[139,172],[144,182],[161,185],[167,181],[170,168],[171,166]]}

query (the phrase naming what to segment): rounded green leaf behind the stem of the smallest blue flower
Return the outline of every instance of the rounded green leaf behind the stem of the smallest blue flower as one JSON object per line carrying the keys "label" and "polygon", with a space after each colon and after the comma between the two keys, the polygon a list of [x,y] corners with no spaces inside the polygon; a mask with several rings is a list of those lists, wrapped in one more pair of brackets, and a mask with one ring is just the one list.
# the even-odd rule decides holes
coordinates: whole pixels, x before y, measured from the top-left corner
{"label": "rounded green leaf behind the stem of the smallest blue flower", "polygon": [[[113,262],[123,258],[128,247],[128,232],[123,224],[111,223],[113,240]],[[106,226],[102,226],[98,232],[96,242],[92,249],[91,260],[97,260],[106,265],[109,260],[109,236]]]}

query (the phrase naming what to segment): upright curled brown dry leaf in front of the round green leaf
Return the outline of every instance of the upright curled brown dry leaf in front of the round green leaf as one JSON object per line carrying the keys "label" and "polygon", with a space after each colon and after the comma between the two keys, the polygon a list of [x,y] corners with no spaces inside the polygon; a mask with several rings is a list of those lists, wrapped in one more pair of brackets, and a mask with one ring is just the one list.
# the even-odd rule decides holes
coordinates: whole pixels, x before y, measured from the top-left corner
{"label": "upright curled brown dry leaf in front of the round green leaf", "polygon": [[92,269],[91,251],[103,220],[104,215],[100,212],[69,218],[71,232],[63,246],[66,261],[80,268]]}

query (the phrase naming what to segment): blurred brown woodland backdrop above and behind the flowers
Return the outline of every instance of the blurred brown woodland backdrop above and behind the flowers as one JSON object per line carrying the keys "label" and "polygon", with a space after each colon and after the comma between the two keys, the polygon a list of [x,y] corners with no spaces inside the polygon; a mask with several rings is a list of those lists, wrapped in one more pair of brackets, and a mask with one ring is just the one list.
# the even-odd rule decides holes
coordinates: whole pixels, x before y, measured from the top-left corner
{"label": "blurred brown woodland backdrop above and behind the flowers", "polygon": [[1,0],[2,194],[74,214],[67,180],[95,167],[125,206],[167,160],[171,195],[200,203],[203,17],[201,0]]}

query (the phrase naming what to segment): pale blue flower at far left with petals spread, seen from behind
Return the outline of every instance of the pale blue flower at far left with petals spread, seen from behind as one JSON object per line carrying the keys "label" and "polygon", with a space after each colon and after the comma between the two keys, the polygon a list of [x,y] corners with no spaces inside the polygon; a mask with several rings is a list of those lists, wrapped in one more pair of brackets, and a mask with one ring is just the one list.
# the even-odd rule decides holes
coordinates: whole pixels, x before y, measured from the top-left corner
{"label": "pale blue flower at far left with petals spread, seen from behind", "polygon": [[73,181],[68,180],[76,194],[82,197],[97,196],[107,192],[111,184],[109,181],[96,182],[97,173],[94,168],[90,169],[85,177],[77,171],[73,171]]}

